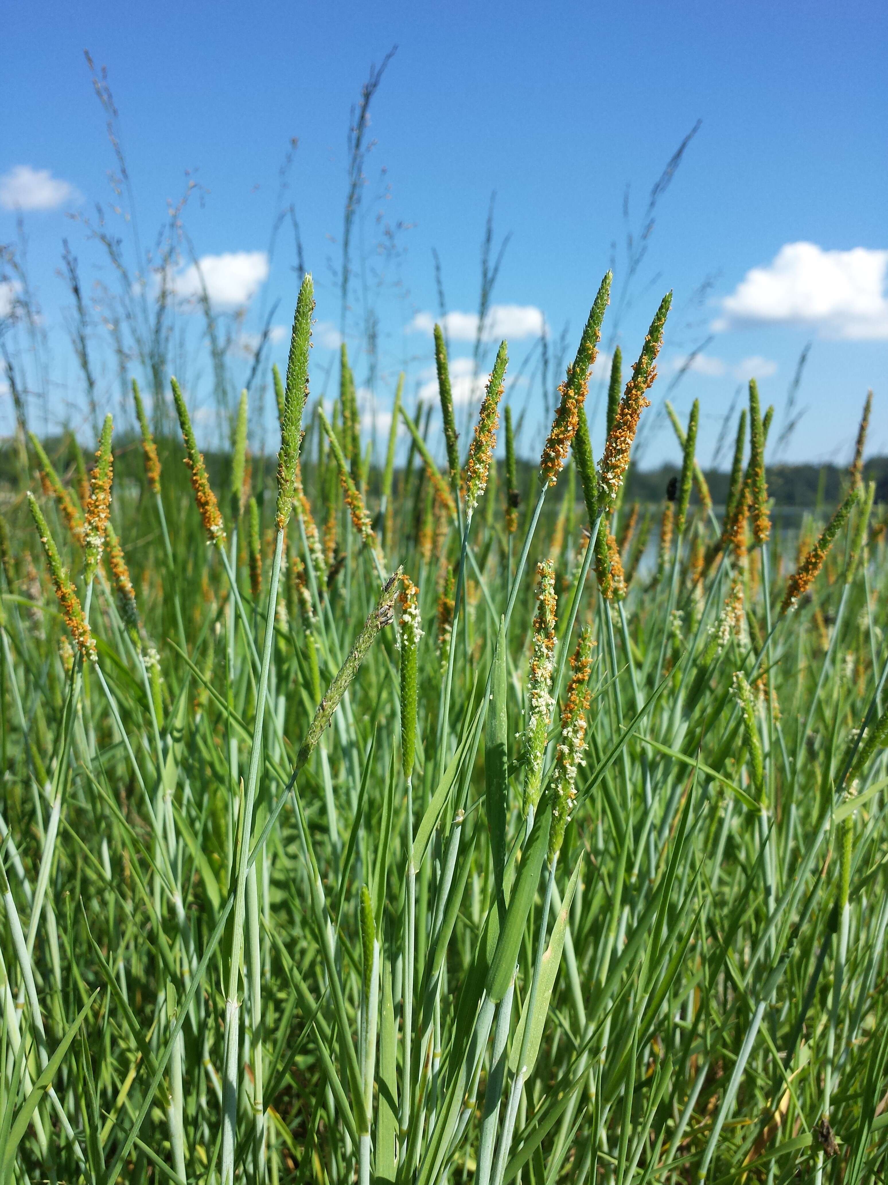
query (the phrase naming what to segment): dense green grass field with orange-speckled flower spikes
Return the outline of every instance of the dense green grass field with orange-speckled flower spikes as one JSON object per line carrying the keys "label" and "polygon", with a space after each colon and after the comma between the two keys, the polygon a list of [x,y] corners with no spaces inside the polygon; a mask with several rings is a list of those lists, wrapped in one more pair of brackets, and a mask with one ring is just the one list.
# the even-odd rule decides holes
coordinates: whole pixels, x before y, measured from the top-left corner
{"label": "dense green grass field with orange-speckled flower spikes", "polygon": [[90,473],[19,440],[2,1181],[883,1179],[867,415],[800,531],[754,383],[725,508],[696,405],[667,500],[625,505],[669,297],[596,466],[609,284],[527,488],[506,344],[469,442],[438,337],[445,440],[399,390],[371,463],[345,353],[311,398],[308,277],[277,466],[244,397],[211,487],[174,380],[185,453],[134,390],[143,469],[110,419]]}

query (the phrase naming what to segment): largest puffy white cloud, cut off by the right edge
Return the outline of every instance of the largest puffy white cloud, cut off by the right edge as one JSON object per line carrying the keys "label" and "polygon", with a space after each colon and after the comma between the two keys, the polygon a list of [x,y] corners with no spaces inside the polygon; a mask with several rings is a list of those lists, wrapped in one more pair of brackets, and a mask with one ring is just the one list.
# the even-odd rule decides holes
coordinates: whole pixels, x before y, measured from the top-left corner
{"label": "largest puffy white cloud, cut off by the right edge", "polygon": [[824,251],[786,243],[767,267],[752,268],[721,302],[714,328],[806,325],[826,338],[888,338],[888,250]]}

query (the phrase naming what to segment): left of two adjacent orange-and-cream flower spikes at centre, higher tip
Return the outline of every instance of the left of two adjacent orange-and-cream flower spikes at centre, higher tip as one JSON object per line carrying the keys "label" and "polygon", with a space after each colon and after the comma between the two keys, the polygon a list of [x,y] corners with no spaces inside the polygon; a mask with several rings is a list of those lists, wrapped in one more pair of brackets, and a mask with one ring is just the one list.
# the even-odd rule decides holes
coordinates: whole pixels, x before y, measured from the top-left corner
{"label": "left of two adjacent orange-and-cream flower spikes at centre, higher tip", "polygon": [[555,568],[551,559],[536,565],[536,615],[533,626],[530,671],[527,679],[527,726],[522,736],[525,754],[525,818],[536,809],[542,788],[542,760],[546,755],[554,699],[552,675],[555,656]]}

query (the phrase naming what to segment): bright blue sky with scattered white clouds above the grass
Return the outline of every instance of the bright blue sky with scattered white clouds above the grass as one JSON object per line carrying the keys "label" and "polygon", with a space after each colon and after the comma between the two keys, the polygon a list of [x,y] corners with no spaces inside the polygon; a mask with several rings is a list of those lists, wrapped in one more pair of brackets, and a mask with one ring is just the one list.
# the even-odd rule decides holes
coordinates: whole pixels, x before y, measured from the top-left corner
{"label": "bright blue sky with scattered white clouds above the grass", "polygon": [[[408,404],[429,392],[426,331],[438,315],[432,249],[451,310],[451,350],[463,359],[455,364],[459,390],[474,397],[480,248],[495,191],[496,244],[507,233],[510,239],[493,294],[503,308],[494,309],[487,337],[502,328],[509,338],[517,376],[509,397],[519,409],[527,405],[523,446],[535,450],[543,415],[541,319],[554,358],[565,326],[568,350],[575,345],[612,261],[614,293],[623,290],[626,230],[638,235],[651,186],[701,120],[657,205],[631,300],[619,319],[617,301],[610,309],[605,341],[617,322],[617,340],[635,357],[659,296],[674,289],[655,404],[688,354],[712,337],[671,392],[684,417],[691,399],[701,401],[704,463],[752,372],[777,406],[777,441],[807,342],[796,402],[804,415],[774,459],[843,461],[869,386],[876,393],[869,451],[888,451],[883,5],[451,0],[382,9],[53,0],[14,6],[5,26],[0,242],[15,242],[21,217],[49,342],[43,377],[34,370],[28,385],[49,392],[56,423],[85,424],[83,383],[64,329],[71,300],[58,276],[65,236],[89,294],[97,398],[123,415],[109,337],[94,308],[94,286],[110,283],[110,269],[83,223],[69,217],[95,218],[96,201],[108,206],[114,167],[83,50],[108,68],[144,243],[167,203],[184,192],[186,171],[198,182],[184,225],[224,322],[233,325],[233,310],[242,310],[229,357],[234,386],[249,372],[250,344],[275,301],[279,326],[295,302],[289,223],[272,257],[264,252],[279,207],[278,169],[290,137],[298,137],[283,200],[295,206],[317,283],[317,392],[339,325],[329,261],[339,265],[349,109],[371,63],[397,44],[371,111],[377,142],[366,164],[348,324],[358,380],[373,386],[365,398],[368,424],[375,409],[385,428],[400,367]],[[121,224],[112,212],[107,217]],[[393,249],[380,255],[386,224]],[[174,283],[176,333],[194,351],[202,322],[188,312],[194,273],[187,258]],[[0,313],[14,314],[21,293],[8,268],[5,284]],[[375,376],[367,373],[360,332],[368,306],[379,318]],[[7,344],[27,351],[20,324]],[[269,360],[284,357],[285,341],[277,340]],[[31,363],[22,356],[24,373]],[[189,367],[189,397],[208,408],[208,363]],[[549,387],[556,382],[551,374]],[[43,405],[34,398],[32,406],[37,417]],[[8,430],[8,392],[0,415]],[[654,410],[646,415],[644,462],[652,465],[674,456],[675,447],[668,423]],[[265,419],[271,423],[268,401]],[[207,411],[206,433],[213,423]]]}

